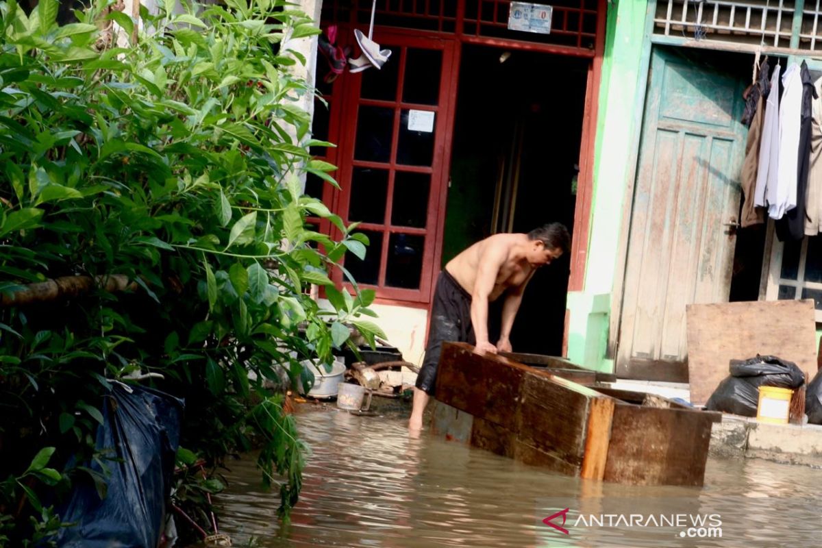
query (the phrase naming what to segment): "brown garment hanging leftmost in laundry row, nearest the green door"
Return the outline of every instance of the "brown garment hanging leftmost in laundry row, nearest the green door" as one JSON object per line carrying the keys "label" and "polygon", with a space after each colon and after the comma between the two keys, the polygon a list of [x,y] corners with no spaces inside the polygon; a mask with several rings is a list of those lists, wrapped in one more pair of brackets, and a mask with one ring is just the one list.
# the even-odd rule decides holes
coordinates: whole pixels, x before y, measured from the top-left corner
{"label": "brown garment hanging leftmost in laundry row, nearest the green door", "polygon": [[[746,92],[745,114],[742,122],[750,124],[748,140],[745,145],[745,161],[742,163],[741,183],[745,201],[742,203],[741,224],[750,227],[753,224],[764,223],[764,210],[754,206],[754,191],[756,175],[760,163],[760,141],[764,124],[764,102],[770,90],[768,73],[770,67],[766,59],[759,67],[756,81]],[[777,94],[778,94],[777,90]]]}

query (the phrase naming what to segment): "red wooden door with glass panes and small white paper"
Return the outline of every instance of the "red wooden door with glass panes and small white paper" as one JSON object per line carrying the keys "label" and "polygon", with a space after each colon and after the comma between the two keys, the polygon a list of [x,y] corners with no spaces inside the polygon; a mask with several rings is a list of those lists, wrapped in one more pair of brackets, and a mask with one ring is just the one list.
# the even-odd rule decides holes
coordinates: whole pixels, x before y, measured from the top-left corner
{"label": "red wooden door with glass panes and small white paper", "polygon": [[[381,70],[346,74],[337,210],[370,240],[344,267],[377,297],[427,303],[445,207],[459,43],[375,33],[391,55]],[[337,273],[342,282],[342,273]]]}

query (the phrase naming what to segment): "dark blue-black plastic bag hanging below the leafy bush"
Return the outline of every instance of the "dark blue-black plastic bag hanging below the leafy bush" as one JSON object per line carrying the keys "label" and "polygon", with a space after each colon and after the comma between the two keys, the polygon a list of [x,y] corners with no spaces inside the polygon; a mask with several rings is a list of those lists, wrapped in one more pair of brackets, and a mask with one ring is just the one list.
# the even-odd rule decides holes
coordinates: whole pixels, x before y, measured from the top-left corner
{"label": "dark blue-black plastic bag hanging below the leafy bush", "polygon": [[175,455],[180,439],[183,403],[158,390],[115,383],[104,398],[103,425],[96,448],[109,456],[101,499],[91,481],[79,483],[63,522],[60,548],[155,548],[165,523],[165,503],[171,493]]}

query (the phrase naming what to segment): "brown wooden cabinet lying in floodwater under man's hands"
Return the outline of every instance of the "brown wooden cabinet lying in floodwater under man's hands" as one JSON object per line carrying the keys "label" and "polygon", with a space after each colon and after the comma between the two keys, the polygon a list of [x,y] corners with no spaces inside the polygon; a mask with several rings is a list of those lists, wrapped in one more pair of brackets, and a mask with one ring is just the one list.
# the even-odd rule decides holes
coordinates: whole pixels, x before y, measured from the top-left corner
{"label": "brown wooden cabinet lying in floodwater under man's hands", "polygon": [[[591,388],[465,343],[442,348],[432,431],[571,476],[701,486],[721,415]],[[568,375],[567,373],[565,373]]]}

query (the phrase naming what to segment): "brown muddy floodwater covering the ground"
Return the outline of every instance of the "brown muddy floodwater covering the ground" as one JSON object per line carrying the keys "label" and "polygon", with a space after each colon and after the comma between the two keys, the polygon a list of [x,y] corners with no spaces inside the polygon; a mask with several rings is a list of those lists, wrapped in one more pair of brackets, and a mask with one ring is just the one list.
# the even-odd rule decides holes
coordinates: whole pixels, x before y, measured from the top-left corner
{"label": "brown muddy floodwater covering the ground", "polygon": [[[218,504],[235,546],[822,546],[822,471],[808,467],[709,459],[703,488],[620,486],[413,439],[397,413],[304,405],[297,419],[312,455],[288,527],[253,455],[229,464]],[[567,534],[543,523],[558,512]]]}

